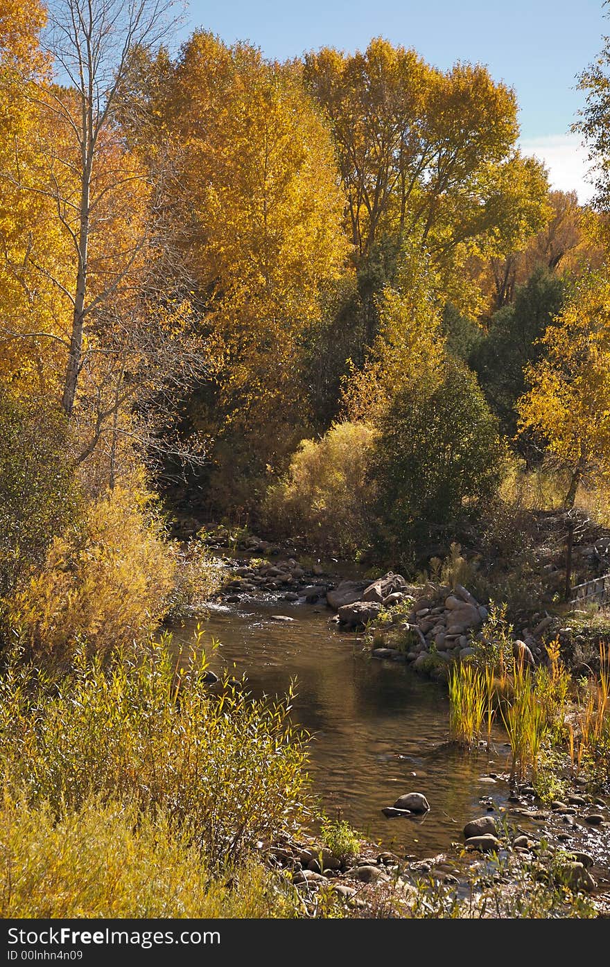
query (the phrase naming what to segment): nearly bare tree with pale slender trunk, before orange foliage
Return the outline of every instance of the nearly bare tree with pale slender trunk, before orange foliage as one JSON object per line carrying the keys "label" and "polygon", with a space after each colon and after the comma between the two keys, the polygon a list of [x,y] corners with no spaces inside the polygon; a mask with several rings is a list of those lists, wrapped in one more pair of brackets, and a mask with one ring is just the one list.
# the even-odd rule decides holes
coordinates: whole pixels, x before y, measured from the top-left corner
{"label": "nearly bare tree with pale slender trunk, before orange foliage", "polygon": [[5,341],[46,339],[55,368],[63,356],[57,382],[75,461],[101,447],[111,485],[118,441],[158,448],[161,401],[167,423],[171,391],[205,369],[191,313],[166,282],[176,275],[161,203],[168,172],[158,155],[153,178],[126,137],[140,120],[125,92],[132,62],[169,36],[175,10],[172,0],[54,0],[43,34],[52,72],[39,71],[24,95],[36,125],[15,136],[2,170],[17,196],[44,206],[53,238],[45,248],[44,235],[30,231],[27,274],[14,272],[22,282],[35,277],[33,314],[46,324],[5,327]]}

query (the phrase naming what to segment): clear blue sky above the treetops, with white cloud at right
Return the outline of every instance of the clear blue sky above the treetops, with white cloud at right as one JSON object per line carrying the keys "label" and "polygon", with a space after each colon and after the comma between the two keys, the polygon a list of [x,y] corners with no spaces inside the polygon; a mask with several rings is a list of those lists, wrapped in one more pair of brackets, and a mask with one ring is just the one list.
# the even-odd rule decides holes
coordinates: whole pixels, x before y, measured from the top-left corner
{"label": "clear blue sky above the treetops, with white cloud at right", "polygon": [[602,0],[187,0],[181,38],[197,28],[278,60],[384,37],[441,70],[484,64],[515,90],[523,152],[544,161],[553,188],[591,197],[586,152],[569,128],[585,99],[577,76],[610,34]]}

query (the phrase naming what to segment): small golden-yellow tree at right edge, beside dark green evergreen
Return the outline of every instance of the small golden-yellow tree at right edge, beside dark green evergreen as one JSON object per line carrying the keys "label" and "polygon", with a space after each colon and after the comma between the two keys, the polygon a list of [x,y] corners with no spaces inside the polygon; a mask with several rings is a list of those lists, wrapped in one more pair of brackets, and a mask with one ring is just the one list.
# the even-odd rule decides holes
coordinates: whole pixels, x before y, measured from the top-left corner
{"label": "small golden-yellow tree at right edge, beside dark green evergreen", "polygon": [[582,480],[610,481],[610,278],[581,279],[556,324],[541,337],[544,357],[528,366],[518,402],[532,431],[569,471],[566,508]]}

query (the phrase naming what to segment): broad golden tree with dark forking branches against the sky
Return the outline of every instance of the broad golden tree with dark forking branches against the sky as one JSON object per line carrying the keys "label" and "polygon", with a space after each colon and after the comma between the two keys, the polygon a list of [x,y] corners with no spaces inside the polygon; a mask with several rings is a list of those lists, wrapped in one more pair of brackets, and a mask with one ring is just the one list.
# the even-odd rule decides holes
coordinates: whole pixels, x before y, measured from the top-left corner
{"label": "broad golden tree with dark forking branches against the sky", "polygon": [[359,267],[384,237],[396,251],[415,239],[455,288],[473,249],[495,251],[541,223],[546,177],[515,151],[514,92],[485,68],[442,73],[376,38],[352,56],[306,54],[304,76],[333,126]]}

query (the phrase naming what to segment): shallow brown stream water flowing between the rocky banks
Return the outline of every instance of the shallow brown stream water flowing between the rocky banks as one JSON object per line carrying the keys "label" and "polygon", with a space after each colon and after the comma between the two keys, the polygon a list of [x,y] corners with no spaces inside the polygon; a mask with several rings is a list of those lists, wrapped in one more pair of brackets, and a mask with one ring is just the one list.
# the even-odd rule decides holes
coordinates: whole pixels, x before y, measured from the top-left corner
{"label": "shallow brown stream water flowing between the rocky banks", "polygon": [[[276,621],[273,615],[293,618]],[[284,695],[297,680],[292,718],[311,733],[310,775],[321,805],[364,835],[421,859],[463,841],[464,824],[506,808],[508,783],[482,781],[508,769],[508,749],[462,751],[448,744],[447,687],[407,666],[370,659],[353,632],[329,624],[326,607],[243,601],[211,611],[204,643],[221,642],[212,661],[247,675],[253,695]],[[174,629],[189,644],[196,622]],[[382,806],[421,792],[430,804],[423,818],[386,819]]]}

